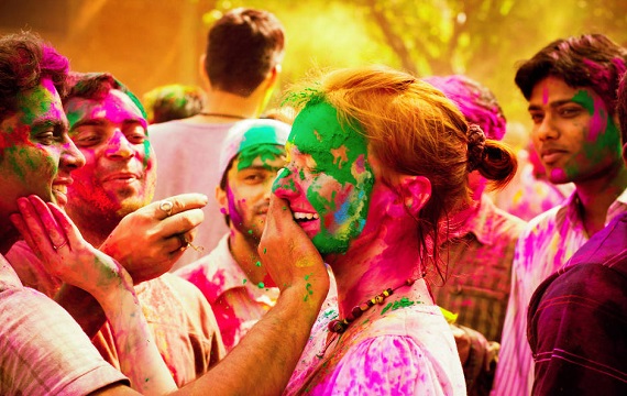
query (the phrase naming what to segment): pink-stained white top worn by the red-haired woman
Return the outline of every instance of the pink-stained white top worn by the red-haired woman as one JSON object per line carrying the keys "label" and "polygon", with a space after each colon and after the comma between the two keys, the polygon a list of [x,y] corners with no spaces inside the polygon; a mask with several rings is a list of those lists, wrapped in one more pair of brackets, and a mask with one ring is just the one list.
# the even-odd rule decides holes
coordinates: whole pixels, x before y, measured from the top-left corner
{"label": "pink-stained white top worn by the red-haired woman", "polygon": [[392,309],[393,295],[336,336],[328,324],[337,299],[328,298],[284,395],[465,395],[449,324],[419,299],[416,293]]}

